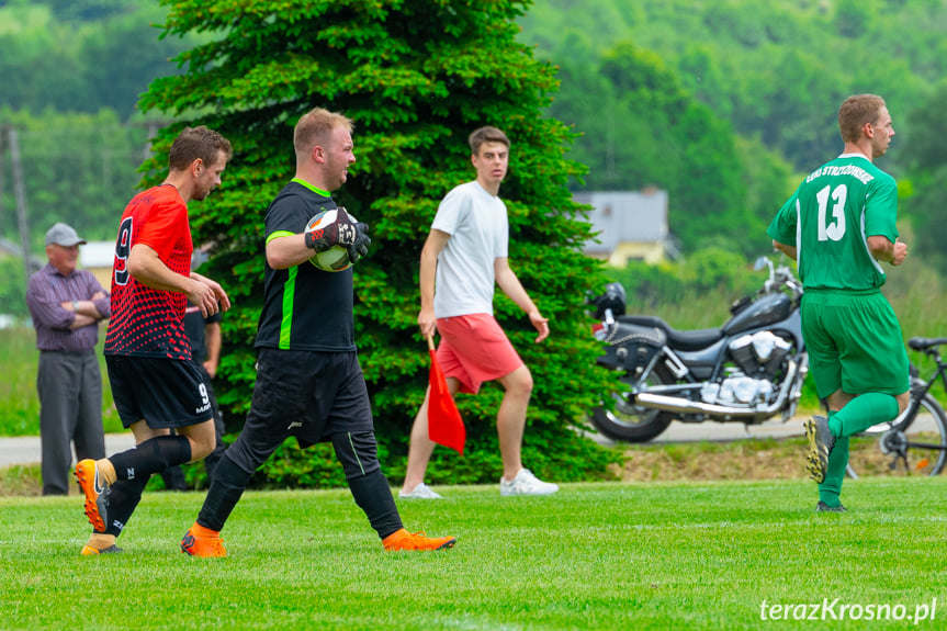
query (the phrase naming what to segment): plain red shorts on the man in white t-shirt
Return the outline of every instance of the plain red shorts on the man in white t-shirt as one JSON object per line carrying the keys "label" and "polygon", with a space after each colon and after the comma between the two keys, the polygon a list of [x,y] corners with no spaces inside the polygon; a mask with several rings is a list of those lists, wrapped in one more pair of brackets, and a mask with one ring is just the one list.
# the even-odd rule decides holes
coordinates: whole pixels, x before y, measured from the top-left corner
{"label": "plain red shorts on the man in white t-shirt", "polygon": [[523,365],[492,315],[471,314],[438,319],[438,363],[444,376],[460,381],[461,392],[476,394],[481,384]]}

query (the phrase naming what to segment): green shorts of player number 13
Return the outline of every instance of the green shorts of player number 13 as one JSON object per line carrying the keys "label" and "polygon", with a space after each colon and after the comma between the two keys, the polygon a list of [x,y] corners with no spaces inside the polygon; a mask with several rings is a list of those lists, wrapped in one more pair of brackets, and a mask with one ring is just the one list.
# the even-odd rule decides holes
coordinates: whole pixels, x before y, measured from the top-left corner
{"label": "green shorts of player number 13", "polygon": [[911,386],[901,325],[878,290],[807,290],[802,338],[819,398],[837,390],[897,396]]}

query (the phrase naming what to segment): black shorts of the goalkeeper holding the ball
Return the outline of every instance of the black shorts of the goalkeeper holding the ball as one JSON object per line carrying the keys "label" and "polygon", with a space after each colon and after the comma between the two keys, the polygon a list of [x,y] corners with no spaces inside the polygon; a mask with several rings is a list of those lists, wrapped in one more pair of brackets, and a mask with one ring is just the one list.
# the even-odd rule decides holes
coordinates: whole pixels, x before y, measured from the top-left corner
{"label": "black shorts of the goalkeeper holding the ball", "polygon": [[335,435],[373,431],[356,352],[261,348],[250,413],[227,452],[252,472],[290,436],[305,448]]}

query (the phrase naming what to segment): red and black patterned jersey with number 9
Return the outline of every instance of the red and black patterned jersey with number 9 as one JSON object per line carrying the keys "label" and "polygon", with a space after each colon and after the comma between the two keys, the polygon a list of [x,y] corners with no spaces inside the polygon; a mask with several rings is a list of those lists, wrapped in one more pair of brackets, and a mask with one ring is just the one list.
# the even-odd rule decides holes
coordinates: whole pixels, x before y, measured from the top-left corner
{"label": "red and black patterned jersey with number 9", "polygon": [[147,245],[172,272],[191,274],[191,226],[188,206],[170,184],[138,193],[128,202],[112,268],[112,318],[105,334],[105,354],[158,357],[190,361],[184,333],[188,298],[180,292],[145,286],[128,273],[128,253]]}

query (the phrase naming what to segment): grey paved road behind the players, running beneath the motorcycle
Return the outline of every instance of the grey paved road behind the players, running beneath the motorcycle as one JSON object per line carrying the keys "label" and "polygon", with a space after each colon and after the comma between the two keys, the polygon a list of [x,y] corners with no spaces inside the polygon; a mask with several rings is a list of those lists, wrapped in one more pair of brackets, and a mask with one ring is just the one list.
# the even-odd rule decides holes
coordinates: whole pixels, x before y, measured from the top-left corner
{"label": "grey paved road behind the players, running beneath the motorcycle", "polygon": [[[791,438],[802,436],[802,421],[805,417],[781,420],[767,420],[762,425],[744,426],[742,422],[672,422],[652,443],[669,442],[726,442],[747,438]],[[914,424],[916,430],[934,431],[934,417],[922,414]],[[590,435],[601,444],[615,444],[600,435]],[[125,451],[135,446],[131,431],[105,435],[105,453]],[[0,438],[0,466],[40,462],[40,437]]]}

